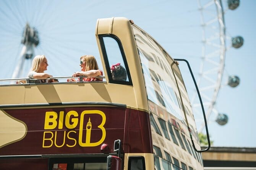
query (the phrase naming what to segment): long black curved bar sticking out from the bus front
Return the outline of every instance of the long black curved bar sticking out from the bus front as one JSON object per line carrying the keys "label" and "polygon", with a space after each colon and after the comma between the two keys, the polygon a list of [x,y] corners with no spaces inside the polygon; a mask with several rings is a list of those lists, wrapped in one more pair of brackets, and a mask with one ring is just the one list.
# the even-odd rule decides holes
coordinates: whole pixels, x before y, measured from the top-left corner
{"label": "long black curved bar sticking out from the bus front", "polygon": [[[193,72],[192,72],[192,69],[190,67],[190,64],[188,63],[188,61],[186,59],[174,59],[175,61],[185,61],[186,64],[188,65],[188,69],[190,70],[190,74],[192,76],[192,79],[193,79],[193,82],[194,82],[194,85],[196,87],[196,91],[198,93],[198,97],[199,97],[199,101],[200,101],[200,104],[201,104],[201,108],[202,108],[202,111],[203,111],[203,115],[204,115],[204,124],[205,124],[205,129],[206,129],[206,135],[207,135],[207,141],[208,141],[208,147],[206,149],[203,149],[201,151],[198,151],[196,149],[196,146],[194,145],[194,141],[193,141],[193,138],[190,134],[190,138],[191,138],[191,141],[192,141],[192,144],[193,144],[193,147],[194,149],[196,150],[196,152],[205,152],[205,151],[208,151],[210,148],[211,148],[211,142],[210,142],[210,137],[209,137],[209,132],[208,132],[208,126],[207,126],[207,120],[206,120],[206,115],[205,115],[205,112],[204,112],[204,105],[203,105],[203,101],[202,101],[202,98],[201,98],[201,95],[200,95],[200,92],[199,92],[199,89],[198,89],[198,86],[196,84],[196,80],[194,78],[194,75],[193,75]],[[188,130],[190,131],[190,127],[188,126]]]}

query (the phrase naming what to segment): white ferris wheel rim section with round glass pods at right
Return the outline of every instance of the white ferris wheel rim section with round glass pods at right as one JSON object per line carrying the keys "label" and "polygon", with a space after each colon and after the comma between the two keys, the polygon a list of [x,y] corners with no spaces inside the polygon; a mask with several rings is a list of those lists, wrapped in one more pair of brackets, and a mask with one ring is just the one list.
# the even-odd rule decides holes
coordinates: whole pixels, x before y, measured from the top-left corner
{"label": "white ferris wheel rim section with round glass pods at right", "polygon": [[[229,10],[235,10],[239,0],[228,0]],[[217,96],[222,85],[237,87],[240,79],[236,75],[229,75],[228,80],[223,83],[225,54],[227,50],[226,43],[226,26],[225,26],[225,9],[222,0],[203,1],[198,0],[199,11],[201,15],[202,27],[202,53],[199,66],[199,76],[197,84],[203,105],[206,112],[206,119],[214,119],[219,125],[225,125],[228,122],[228,116],[216,109]],[[241,36],[232,37],[232,47],[240,48],[243,45]],[[194,112],[198,112],[200,103],[196,99],[196,93],[193,94],[191,104]],[[213,115],[211,117],[211,115]],[[196,119],[197,121],[200,119]],[[200,122],[200,121],[199,121]],[[201,121],[198,132],[202,132],[204,123]]]}

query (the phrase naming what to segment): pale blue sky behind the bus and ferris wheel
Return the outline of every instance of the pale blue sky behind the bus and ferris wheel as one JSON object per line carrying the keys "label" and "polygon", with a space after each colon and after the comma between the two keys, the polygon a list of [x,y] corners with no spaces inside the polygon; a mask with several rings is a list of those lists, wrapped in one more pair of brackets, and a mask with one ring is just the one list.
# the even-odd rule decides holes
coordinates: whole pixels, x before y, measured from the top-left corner
{"label": "pale blue sky behind the bus and ferris wheel", "polygon": [[[44,54],[49,63],[47,73],[53,76],[70,76],[79,71],[79,58],[85,54],[96,56],[100,62],[96,44],[95,27],[98,18],[122,16],[132,19],[136,25],[150,34],[173,58],[185,58],[192,67],[196,79],[200,77],[199,68],[202,56],[220,48],[205,48],[202,41],[202,16],[205,20],[216,18],[216,8],[200,13],[199,3],[203,6],[210,0],[0,0],[0,79],[11,78],[19,61],[22,49],[21,37],[26,23],[39,32],[40,43],[35,55]],[[256,133],[253,121],[256,120],[256,72],[254,63],[254,41],[256,39],[255,0],[241,0],[236,10],[228,10],[227,0],[222,0],[226,27],[225,67],[220,90],[215,101],[215,109],[228,115],[228,123],[218,125],[212,112],[208,127],[213,146],[256,147]],[[218,44],[218,22],[205,27],[205,36]],[[244,44],[235,49],[230,45],[231,37],[242,36]],[[213,59],[219,62],[219,59]],[[23,76],[26,77],[31,61],[25,61]],[[205,63],[205,67],[213,67]],[[182,69],[181,69],[182,70]],[[183,72],[183,71],[182,71]],[[218,70],[209,76],[215,79]],[[206,71],[204,71],[206,73]],[[229,75],[237,75],[240,84],[231,88],[227,85]],[[183,72],[186,77],[187,72]],[[202,80],[201,85],[204,82]],[[212,83],[216,85],[215,83]],[[191,89],[191,90],[190,90]],[[193,96],[193,87],[187,85]],[[204,93],[204,92],[203,92]],[[212,91],[205,92],[212,98]],[[207,109],[206,109],[207,111]],[[199,125],[202,115],[195,116]]]}

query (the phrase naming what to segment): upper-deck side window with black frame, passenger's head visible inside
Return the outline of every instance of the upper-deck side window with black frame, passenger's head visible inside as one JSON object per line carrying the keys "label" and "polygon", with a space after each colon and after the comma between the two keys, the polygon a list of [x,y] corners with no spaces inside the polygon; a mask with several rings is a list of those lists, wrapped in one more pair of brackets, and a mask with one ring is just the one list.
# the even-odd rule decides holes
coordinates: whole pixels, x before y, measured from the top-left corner
{"label": "upper-deck side window with black frame, passenger's head visible inside", "polygon": [[110,83],[132,85],[125,53],[120,40],[114,35],[100,35],[100,45]]}

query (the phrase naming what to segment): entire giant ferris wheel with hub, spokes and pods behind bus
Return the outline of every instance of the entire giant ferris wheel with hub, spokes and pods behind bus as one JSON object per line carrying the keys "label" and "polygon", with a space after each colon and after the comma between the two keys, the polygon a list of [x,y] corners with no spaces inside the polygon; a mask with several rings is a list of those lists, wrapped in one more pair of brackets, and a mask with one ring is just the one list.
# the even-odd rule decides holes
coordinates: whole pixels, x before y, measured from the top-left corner
{"label": "entire giant ferris wheel with hub, spokes and pods behind bus", "polygon": [[[159,43],[173,58],[186,58],[192,63],[207,119],[225,125],[228,117],[216,109],[217,96],[223,85],[236,87],[240,79],[236,75],[229,75],[227,81],[223,82],[228,49],[224,18],[226,10],[223,6],[225,3],[228,10],[235,10],[240,1],[197,0],[189,3],[183,6],[181,1],[170,0],[96,0],[86,3],[65,1],[59,4],[58,1],[35,0],[13,4],[0,0],[0,21],[5,23],[0,27],[3,38],[0,42],[0,62],[6,65],[5,70],[1,70],[6,77],[1,78],[26,77],[33,57],[41,54],[46,55],[52,75],[71,75],[78,69],[76,61],[79,56],[87,53],[99,57],[94,37],[97,18],[125,16],[133,19],[135,24],[156,40],[165,37]],[[101,13],[97,12],[99,8]],[[166,22],[170,24],[166,26]],[[230,42],[231,47],[240,48],[243,38],[232,37]],[[175,45],[187,50],[176,48]],[[67,69],[58,69],[63,66]],[[99,67],[102,67],[100,63]],[[188,93],[193,111],[201,116],[195,91],[188,90]],[[199,123],[198,131],[202,132],[204,124],[200,116],[195,119]]]}

